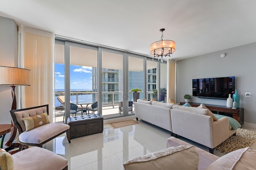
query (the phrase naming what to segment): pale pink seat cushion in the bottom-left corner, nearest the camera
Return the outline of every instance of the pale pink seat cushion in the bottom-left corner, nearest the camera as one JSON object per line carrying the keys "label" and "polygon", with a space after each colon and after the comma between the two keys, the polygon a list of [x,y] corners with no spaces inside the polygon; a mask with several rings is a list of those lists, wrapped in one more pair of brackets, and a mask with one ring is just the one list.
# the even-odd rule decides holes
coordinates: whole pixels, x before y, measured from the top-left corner
{"label": "pale pink seat cushion in the bottom-left corner, nearest the camera", "polygon": [[62,170],[68,160],[50,150],[31,147],[12,155],[14,170]]}

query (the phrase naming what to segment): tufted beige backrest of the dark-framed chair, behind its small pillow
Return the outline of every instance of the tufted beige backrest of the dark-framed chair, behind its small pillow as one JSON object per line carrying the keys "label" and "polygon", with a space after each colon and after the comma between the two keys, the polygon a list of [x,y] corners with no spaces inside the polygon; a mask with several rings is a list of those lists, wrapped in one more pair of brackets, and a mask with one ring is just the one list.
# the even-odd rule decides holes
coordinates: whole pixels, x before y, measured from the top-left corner
{"label": "tufted beige backrest of the dark-framed chair, behind its small pillow", "polygon": [[26,126],[25,126],[24,120],[22,118],[33,117],[33,116],[40,115],[42,113],[47,113],[47,107],[46,106],[14,112],[15,117],[16,117],[18,123],[20,124],[23,132],[26,131]]}

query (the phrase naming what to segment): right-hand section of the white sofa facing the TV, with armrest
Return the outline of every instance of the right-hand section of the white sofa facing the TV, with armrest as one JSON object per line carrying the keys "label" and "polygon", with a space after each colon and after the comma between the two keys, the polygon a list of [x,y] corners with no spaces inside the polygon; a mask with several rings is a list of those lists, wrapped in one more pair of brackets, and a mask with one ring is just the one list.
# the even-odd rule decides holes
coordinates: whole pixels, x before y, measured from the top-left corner
{"label": "right-hand section of the white sofa facing the TV, with armrest", "polygon": [[209,148],[214,148],[224,142],[237,130],[230,129],[227,117],[216,121],[208,114],[208,109],[198,107],[173,106],[171,113],[172,132],[174,137],[180,135]]}

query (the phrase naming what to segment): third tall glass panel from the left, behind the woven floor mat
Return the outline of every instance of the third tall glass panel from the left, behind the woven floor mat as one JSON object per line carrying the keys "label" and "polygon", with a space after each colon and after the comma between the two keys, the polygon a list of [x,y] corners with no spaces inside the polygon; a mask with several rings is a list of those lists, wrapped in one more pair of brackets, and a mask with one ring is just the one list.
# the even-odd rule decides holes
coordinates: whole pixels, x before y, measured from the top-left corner
{"label": "third tall glass panel from the left, behind the woven floor mat", "polygon": [[124,53],[102,51],[102,115],[104,118],[124,115]]}

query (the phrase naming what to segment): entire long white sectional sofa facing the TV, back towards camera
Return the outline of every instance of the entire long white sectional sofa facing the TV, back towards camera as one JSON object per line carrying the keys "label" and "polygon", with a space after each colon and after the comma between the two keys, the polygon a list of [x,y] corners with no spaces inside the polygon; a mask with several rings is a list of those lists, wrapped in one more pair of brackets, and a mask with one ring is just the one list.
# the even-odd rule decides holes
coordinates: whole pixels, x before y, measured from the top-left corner
{"label": "entire long white sectional sofa facing the TV, back towards camera", "polygon": [[204,105],[186,107],[156,101],[134,102],[136,119],[142,119],[209,148],[214,148],[236,133],[227,117],[218,119]]}

